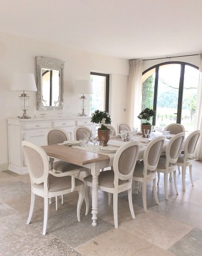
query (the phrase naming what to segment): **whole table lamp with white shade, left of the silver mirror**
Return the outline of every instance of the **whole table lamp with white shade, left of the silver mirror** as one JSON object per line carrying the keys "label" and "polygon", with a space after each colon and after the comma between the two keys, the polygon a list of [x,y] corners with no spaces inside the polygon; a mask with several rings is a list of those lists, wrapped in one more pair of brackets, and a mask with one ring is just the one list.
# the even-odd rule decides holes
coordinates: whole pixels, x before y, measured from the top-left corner
{"label": "whole table lamp with white shade, left of the silver mirror", "polygon": [[19,99],[21,99],[21,109],[24,111],[23,115],[19,118],[28,119],[31,118],[27,115],[29,109],[29,96],[25,91],[37,91],[36,82],[32,73],[15,73],[13,76],[12,91],[23,91]]}

